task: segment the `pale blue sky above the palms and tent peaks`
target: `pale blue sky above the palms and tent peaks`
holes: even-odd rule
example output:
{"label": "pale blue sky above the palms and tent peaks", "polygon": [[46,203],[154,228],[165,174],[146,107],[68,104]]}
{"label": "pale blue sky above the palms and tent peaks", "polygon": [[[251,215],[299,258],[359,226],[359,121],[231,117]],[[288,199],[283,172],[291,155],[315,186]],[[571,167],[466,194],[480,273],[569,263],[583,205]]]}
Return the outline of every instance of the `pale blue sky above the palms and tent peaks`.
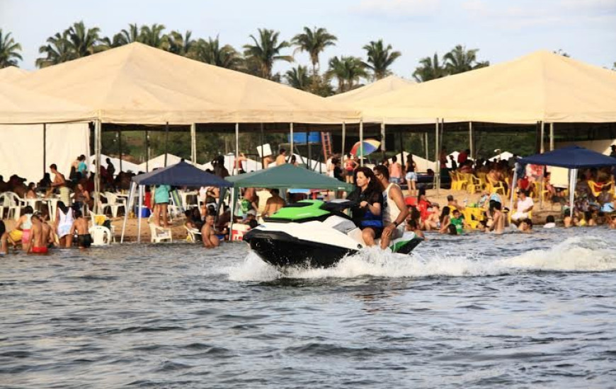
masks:
{"label": "pale blue sky above the palms and tent peaks", "polygon": [[[219,35],[237,50],[258,28],[290,40],[304,26],[323,27],[338,37],[321,54],[323,68],[335,55],[365,58],[362,47],[383,39],[402,53],[391,69],[407,79],[419,59],[455,45],[479,49],[478,59],[492,64],[536,50],[608,68],[616,62],[616,0],[0,0],[0,28],[21,43],[23,69],[35,69],[47,37],[76,21],[110,37],[129,23],[161,23],[167,33]],[[297,64],[309,64],[307,55],[296,53],[294,64],[274,71]]]}

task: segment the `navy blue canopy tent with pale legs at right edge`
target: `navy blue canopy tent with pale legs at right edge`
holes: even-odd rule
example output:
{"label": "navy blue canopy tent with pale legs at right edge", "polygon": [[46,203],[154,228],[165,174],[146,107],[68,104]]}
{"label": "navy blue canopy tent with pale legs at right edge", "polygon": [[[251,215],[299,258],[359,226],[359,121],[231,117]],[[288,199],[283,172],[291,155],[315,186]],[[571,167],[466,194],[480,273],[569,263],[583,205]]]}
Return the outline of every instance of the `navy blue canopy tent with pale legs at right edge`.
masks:
{"label": "navy blue canopy tent with pale legs at right edge", "polygon": [[[576,190],[576,180],[578,176],[578,169],[583,168],[603,168],[605,166],[616,166],[616,158],[605,156],[602,153],[596,151],[584,149],[580,146],[569,146],[563,149],[557,149],[548,151],[547,153],[536,154],[526,158],[521,158],[518,163],[527,165],[532,163],[533,165],[540,166],[558,166],[560,168],[569,169],[569,209],[571,210],[571,216],[574,212],[574,194]],[[513,190],[515,190],[515,184],[518,182],[517,169],[513,173],[513,188],[511,189],[511,209],[513,209]]]}

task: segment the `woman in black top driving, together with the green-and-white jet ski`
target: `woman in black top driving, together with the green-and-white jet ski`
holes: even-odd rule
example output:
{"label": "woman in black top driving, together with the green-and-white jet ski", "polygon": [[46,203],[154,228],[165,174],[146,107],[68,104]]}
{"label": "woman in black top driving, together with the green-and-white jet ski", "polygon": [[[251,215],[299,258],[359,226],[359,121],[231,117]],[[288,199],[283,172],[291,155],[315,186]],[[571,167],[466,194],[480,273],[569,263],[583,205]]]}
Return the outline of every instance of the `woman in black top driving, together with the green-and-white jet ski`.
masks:
{"label": "woman in black top driving, together with the green-and-white jet ski", "polygon": [[[290,204],[246,233],[244,241],[261,259],[280,267],[330,267],[346,255],[377,244],[383,229],[382,194],[378,185],[370,185],[376,182],[370,169],[358,169],[355,182],[357,188],[349,199]],[[353,218],[343,213],[347,208]],[[420,242],[414,233],[406,232],[392,240],[389,250],[409,254]]]}

